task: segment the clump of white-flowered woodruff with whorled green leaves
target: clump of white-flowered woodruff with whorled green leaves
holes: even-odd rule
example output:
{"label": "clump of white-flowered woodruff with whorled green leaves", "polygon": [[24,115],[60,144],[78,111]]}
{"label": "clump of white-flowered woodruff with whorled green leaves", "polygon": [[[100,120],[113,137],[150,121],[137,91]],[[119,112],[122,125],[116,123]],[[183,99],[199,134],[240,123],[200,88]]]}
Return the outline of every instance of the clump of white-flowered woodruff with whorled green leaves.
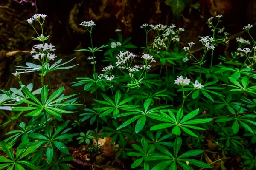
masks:
{"label": "clump of white-flowered woodruff with whorled green leaves", "polygon": [[[251,40],[238,37],[236,51],[217,56],[214,51],[218,46],[229,45],[229,34],[219,27],[222,15],[207,20],[212,35],[196,42],[203,47],[202,53],[193,51],[195,42],[181,49],[180,34],[186,34],[185,30],[162,24],[141,26],[145,30],[145,47],[139,49],[142,54],[135,54],[137,47],[130,43],[130,37],[123,40],[121,30],[116,30],[118,40],[110,39],[109,44],[98,48],[92,41],[96,24],[82,22],[91,45],[78,51],[90,56],[87,59],[93,74],[77,78],[72,86],[83,85],[95,99],[81,111],[77,106],[86,103],[79,104],[78,98],[73,98],[76,94],[64,96],[64,87],[54,92],[51,89],[49,74],[74,66],[63,66],[73,59],[53,63],[54,46],[44,43],[50,38],[43,32],[45,17],[35,14],[27,20],[34,29],[33,24],[41,25],[41,35],[35,30],[38,37],[32,37],[40,42],[31,51],[35,64],[19,66],[14,75],[21,88],[10,88],[0,96],[0,111],[9,119],[6,124],[17,125],[17,130],[6,133],[7,139],[0,143],[8,156],[0,156],[0,168],[67,170],[70,167],[65,162],[73,158],[68,156],[66,145],[74,136],[79,144],[93,146],[92,140],[96,140],[96,145],[87,149],[95,155],[101,152],[99,139],[111,137],[116,159],[134,160],[131,168],[135,169],[225,170],[231,164],[243,170],[256,168],[253,25],[244,27]],[[156,35],[152,43],[148,41],[151,32]],[[103,61],[110,65],[99,68],[97,54],[103,50]],[[32,84],[22,84],[21,75],[27,72],[41,76],[41,88],[33,91]],[[10,111],[15,116],[9,117]],[[82,112],[81,119],[72,125],[85,125],[87,130],[68,133],[69,121],[62,122],[62,116],[78,111]],[[17,118],[23,115],[31,116],[30,121],[18,124]],[[16,155],[13,146],[17,147]]]}

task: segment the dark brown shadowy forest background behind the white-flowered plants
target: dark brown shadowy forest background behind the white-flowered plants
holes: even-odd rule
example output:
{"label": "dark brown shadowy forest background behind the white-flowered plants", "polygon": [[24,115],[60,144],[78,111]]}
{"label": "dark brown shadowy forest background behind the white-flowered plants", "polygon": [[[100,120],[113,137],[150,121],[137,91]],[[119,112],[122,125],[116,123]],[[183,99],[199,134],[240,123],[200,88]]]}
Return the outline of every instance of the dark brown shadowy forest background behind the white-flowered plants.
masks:
{"label": "dark brown shadowy forest background behind the white-flowered plants", "polygon": [[[70,65],[79,64],[71,70],[51,74],[53,91],[65,86],[66,95],[80,93],[81,103],[85,105],[90,105],[93,96],[90,92],[84,92],[82,86],[73,88],[70,85],[76,81],[76,77],[92,75],[92,65],[86,54],[74,52],[90,44],[89,34],[79,26],[82,21],[93,20],[96,23],[93,43],[98,47],[107,44],[109,38],[116,38],[116,29],[122,30],[124,38],[132,37],[131,42],[137,47],[143,46],[145,32],[140,29],[143,23],[176,24],[185,28],[180,38],[180,46],[183,47],[188,42],[197,42],[199,35],[211,34],[205,22],[216,14],[224,15],[221,26],[230,34],[232,44],[236,42],[236,37],[241,36],[244,26],[256,23],[256,0],[180,0],[184,8],[170,6],[168,1],[173,0],[0,0],[0,89],[19,88],[17,79],[10,75],[15,72],[13,66],[35,62],[30,51],[36,41],[30,37],[36,35],[26,22],[35,13],[48,16],[44,32],[52,36],[48,43],[56,46],[58,59],[67,61],[76,57]],[[153,34],[150,36],[154,37]],[[247,35],[243,36],[247,38]],[[233,49],[230,47],[228,50]],[[216,58],[224,55],[224,51],[218,51]],[[138,54],[142,51],[137,49],[133,52]],[[103,53],[96,57],[96,69],[100,71],[108,63],[101,62]],[[35,73],[23,74],[21,79],[26,85],[32,82],[35,89],[40,88],[40,77]],[[74,118],[67,116],[66,119]],[[4,121],[0,115],[0,124]],[[12,128],[6,127],[3,133],[1,131],[0,138]]]}

